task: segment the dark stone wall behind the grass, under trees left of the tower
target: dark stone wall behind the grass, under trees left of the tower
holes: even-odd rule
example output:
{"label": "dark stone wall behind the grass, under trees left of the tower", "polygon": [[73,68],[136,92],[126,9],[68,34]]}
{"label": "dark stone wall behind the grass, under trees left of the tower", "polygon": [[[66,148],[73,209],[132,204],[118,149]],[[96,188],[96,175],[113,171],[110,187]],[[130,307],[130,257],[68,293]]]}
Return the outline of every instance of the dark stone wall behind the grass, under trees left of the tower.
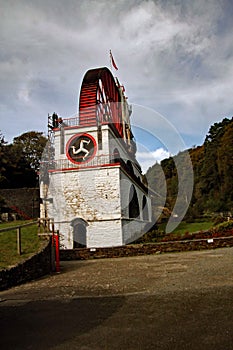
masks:
{"label": "dark stone wall behind the grass, under trees left of the tower", "polygon": [[[23,219],[38,218],[40,216],[39,188],[0,189],[0,197],[6,203],[6,212],[16,213],[18,217]],[[2,211],[4,211],[4,208]]]}

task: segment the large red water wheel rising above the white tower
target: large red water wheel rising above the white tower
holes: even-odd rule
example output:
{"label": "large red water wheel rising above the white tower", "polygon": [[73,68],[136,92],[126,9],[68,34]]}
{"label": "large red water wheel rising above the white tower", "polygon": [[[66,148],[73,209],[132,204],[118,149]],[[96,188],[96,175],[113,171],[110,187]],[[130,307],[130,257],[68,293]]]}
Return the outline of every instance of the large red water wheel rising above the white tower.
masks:
{"label": "large red water wheel rising above the white tower", "polygon": [[122,136],[121,95],[106,67],[86,72],[79,97],[80,126],[112,123]]}

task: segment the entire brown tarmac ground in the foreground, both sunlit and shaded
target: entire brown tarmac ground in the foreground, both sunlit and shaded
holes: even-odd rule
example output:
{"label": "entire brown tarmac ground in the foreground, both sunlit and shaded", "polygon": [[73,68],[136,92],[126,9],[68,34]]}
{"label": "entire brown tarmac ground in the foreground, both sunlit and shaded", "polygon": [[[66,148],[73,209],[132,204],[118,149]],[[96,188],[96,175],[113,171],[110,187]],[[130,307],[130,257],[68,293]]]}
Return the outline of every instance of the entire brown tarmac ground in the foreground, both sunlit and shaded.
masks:
{"label": "entire brown tarmac ground in the foreground, both sunlit and shaded", "polygon": [[233,248],[61,267],[0,292],[1,349],[233,349]]}

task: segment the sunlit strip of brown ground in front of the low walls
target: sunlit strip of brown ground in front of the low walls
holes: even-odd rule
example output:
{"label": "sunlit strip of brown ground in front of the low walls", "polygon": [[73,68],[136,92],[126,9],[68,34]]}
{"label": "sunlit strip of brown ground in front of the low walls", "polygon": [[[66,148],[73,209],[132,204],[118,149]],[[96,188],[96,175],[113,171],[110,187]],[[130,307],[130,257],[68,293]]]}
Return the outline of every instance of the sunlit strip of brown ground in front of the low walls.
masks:
{"label": "sunlit strip of brown ground in front of the low walls", "polygon": [[2,299],[164,294],[233,286],[233,248],[61,262],[61,273],[0,293]]}

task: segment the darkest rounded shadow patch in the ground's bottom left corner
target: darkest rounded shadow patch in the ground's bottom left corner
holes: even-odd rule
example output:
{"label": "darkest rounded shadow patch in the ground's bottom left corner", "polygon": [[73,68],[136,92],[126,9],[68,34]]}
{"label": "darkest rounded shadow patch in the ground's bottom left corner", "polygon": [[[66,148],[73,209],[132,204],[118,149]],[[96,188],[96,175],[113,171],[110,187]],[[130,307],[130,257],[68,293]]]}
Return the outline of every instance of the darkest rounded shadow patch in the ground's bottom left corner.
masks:
{"label": "darkest rounded shadow patch in the ground's bottom left corner", "polygon": [[[123,297],[44,300],[0,305],[0,349],[49,349],[97,327]],[[4,305],[5,304],[5,305]]]}

